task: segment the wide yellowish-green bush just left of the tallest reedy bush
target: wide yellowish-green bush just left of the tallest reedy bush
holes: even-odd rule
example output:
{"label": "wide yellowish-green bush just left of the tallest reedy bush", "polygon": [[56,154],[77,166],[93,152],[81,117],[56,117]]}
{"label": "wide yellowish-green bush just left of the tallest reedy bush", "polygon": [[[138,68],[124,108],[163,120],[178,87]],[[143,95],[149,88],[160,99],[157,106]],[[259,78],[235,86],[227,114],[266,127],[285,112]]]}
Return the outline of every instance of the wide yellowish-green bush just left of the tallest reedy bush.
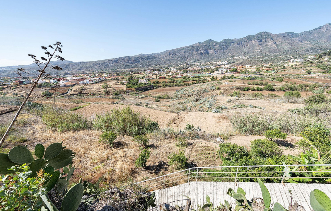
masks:
{"label": "wide yellowish-green bush just left of the tallest reedy bush", "polygon": [[91,129],[91,122],[79,114],[63,109],[46,107],[41,117],[47,129],[59,132],[82,131]]}

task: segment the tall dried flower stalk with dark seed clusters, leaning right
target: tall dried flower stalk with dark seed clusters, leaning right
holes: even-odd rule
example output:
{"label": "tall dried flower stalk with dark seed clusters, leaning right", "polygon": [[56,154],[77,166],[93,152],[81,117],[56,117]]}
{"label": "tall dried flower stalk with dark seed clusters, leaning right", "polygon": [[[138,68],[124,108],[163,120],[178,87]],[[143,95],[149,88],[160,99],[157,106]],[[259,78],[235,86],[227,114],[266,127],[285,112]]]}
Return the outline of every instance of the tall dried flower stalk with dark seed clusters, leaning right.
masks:
{"label": "tall dried flower stalk with dark seed clusters, leaning right", "polygon": [[[54,47],[53,47],[54,46]],[[11,122],[11,124],[9,125],[7,131],[5,132],[5,134],[3,135],[2,139],[0,140],[0,147],[1,145],[3,144],[3,142],[5,141],[5,139],[7,138],[8,134],[9,134],[9,131],[12,129],[17,117],[19,116],[19,114],[21,113],[26,101],[29,99],[30,95],[32,94],[33,90],[35,87],[38,86],[38,82],[40,79],[46,79],[47,77],[49,77],[50,75],[46,73],[47,70],[49,69],[52,69],[52,70],[62,70],[62,68],[60,68],[59,66],[53,66],[50,62],[53,58],[56,58],[56,59],[59,59],[61,61],[65,60],[63,57],[57,55],[57,52],[59,53],[62,53],[62,44],[61,42],[56,42],[55,44],[52,45],[49,45],[48,47],[50,49],[52,49],[52,52],[48,51],[47,50],[47,47],[45,46],[41,46],[41,48],[43,50],[45,50],[45,54],[47,55],[48,58],[45,58],[45,57],[40,57],[40,59],[42,61],[40,61],[39,59],[37,59],[37,57],[33,54],[28,54],[28,56],[30,56],[32,59],[33,59],[33,62],[35,64],[37,64],[38,66],[38,72],[39,72],[39,75],[38,74],[35,74],[35,73],[28,73],[25,71],[25,69],[23,68],[18,68],[17,70],[20,71],[20,72],[16,72],[19,76],[21,76],[22,78],[24,79],[27,79],[25,76],[26,75],[29,75],[29,76],[37,76],[37,79],[36,81],[33,81],[31,83],[31,88],[30,88],[30,91],[26,93],[26,97],[24,99],[24,101],[22,102],[19,110],[17,111],[15,117],[13,118],[13,121]]]}

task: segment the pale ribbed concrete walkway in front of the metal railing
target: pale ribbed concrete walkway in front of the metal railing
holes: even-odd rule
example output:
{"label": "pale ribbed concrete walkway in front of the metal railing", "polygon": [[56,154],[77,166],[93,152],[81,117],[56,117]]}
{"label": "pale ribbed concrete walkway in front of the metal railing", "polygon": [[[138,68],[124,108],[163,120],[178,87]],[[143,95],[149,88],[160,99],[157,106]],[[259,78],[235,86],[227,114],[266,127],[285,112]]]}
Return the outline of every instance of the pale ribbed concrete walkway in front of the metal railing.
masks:
{"label": "pale ribbed concrete walkway in front of the metal railing", "polygon": [[[286,209],[291,201],[291,196],[288,190],[292,190],[293,203],[298,202],[303,206],[306,211],[313,211],[309,203],[309,194],[311,190],[319,189],[325,192],[331,198],[331,184],[291,184],[286,183],[285,186],[281,183],[265,183],[271,195],[272,206],[275,202],[280,203]],[[226,194],[229,188],[237,191],[237,188],[241,187],[246,192],[246,198],[251,200],[253,197],[261,197],[262,193],[258,183],[237,183],[234,182],[191,182],[165,189],[155,190],[156,204],[169,203],[176,200],[187,199],[192,200],[191,208],[197,209],[197,205],[201,206],[206,203],[206,195],[209,195],[211,202],[214,206],[219,205],[224,200],[229,203],[235,203],[235,200]],[[176,201],[170,203],[170,205],[185,205],[186,201]]]}

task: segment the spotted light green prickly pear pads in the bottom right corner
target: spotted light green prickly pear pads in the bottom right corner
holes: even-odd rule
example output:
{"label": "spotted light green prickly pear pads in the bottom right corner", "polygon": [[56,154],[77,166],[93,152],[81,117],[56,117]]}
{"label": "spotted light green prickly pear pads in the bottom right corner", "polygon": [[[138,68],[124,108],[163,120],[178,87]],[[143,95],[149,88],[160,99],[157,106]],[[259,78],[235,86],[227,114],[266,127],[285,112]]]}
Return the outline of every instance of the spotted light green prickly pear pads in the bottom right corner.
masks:
{"label": "spotted light green prickly pear pads in the bottom right corner", "polygon": [[310,192],[310,206],[315,211],[328,211],[331,210],[331,200],[322,191],[314,189]]}

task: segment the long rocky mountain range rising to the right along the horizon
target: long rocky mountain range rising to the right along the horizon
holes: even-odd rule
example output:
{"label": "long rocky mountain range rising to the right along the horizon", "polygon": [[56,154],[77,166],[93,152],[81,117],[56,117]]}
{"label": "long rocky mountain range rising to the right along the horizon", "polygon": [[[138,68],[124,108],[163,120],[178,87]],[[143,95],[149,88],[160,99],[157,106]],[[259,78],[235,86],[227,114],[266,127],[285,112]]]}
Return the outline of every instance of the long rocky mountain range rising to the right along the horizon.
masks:
{"label": "long rocky mountain range rising to the right along the horizon", "polygon": [[[206,40],[193,45],[166,50],[160,53],[139,54],[115,59],[90,62],[54,61],[53,65],[63,68],[61,75],[88,73],[91,71],[114,71],[166,66],[185,63],[199,63],[226,60],[236,64],[259,64],[270,61],[281,61],[287,57],[312,55],[331,49],[331,24],[319,26],[300,33],[284,32],[273,34],[259,32],[240,39],[223,39],[222,41]],[[233,57],[250,56],[242,60]],[[36,65],[0,67],[0,76],[13,76],[17,68],[35,71]],[[59,75],[59,72],[51,74]]]}

